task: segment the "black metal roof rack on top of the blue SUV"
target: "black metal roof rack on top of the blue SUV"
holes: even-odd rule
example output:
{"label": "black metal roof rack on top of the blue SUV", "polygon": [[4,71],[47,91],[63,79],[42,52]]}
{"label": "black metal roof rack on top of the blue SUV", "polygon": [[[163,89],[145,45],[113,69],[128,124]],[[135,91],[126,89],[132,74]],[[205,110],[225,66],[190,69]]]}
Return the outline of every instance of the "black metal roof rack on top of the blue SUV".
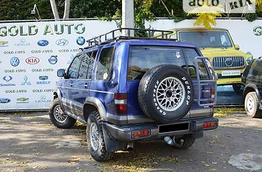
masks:
{"label": "black metal roof rack on top of the blue SUV", "polygon": [[[125,32],[128,36],[121,36]],[[155,34],[157,32],[157,34]],[[120,39],[168,39],[168,34],[172,34],[172,31],[168,30],[150,30],[150,29],[135,29],[135,28],[119,28],[112,30],[106,34],[101,34],[92,39],[88,39],[88,47],[85,49],[94,47],[97,45],[110,43]],[[157,36],[154,36],[157,35]],[[177,41],[177,39],[169,39],[170,41]]]}

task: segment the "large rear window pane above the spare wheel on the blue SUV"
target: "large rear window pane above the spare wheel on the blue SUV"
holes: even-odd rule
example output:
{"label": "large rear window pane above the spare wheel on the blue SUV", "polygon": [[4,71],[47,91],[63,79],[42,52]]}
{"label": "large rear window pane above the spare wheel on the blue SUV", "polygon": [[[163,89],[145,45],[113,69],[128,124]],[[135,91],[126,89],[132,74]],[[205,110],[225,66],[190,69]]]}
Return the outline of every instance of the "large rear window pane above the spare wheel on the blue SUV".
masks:
{"label": "large rear window pane above the spare wheel on the blue SUV", "polygon": [[148,69],[165,64],[185,66],[185,58],[180,47],[131,46],[128,80],[140,80]]}

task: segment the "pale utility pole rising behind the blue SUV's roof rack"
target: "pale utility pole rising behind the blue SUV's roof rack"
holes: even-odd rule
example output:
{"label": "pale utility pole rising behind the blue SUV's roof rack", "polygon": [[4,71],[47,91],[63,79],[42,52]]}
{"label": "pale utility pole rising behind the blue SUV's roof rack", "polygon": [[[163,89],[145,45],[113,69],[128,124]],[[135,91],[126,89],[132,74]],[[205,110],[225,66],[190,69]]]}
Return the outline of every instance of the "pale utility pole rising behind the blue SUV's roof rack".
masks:
{"label": "pale utility pole rising behind the blue SUV's roof rack", "polygon": [[[134,28],[134,0],[122,0],[122,28]],[[134,32],[122,32],[123,36],[134,36]]]}

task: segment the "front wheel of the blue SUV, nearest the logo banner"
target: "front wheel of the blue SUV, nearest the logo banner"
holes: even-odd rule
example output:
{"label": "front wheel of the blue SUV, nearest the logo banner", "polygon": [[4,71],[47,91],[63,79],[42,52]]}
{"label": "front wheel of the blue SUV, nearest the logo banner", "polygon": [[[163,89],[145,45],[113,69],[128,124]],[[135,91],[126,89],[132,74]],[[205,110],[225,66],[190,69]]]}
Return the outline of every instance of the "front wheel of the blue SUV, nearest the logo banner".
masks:
{"label": "front wheel of the blue SUV, nearest the logo banner", "polygon": [[49,116],[52,124],[61,129],[69,129],[73,127],[74,123],[77,121],[63,112],[59,103],[59,98],[54,99],[50,105]]}

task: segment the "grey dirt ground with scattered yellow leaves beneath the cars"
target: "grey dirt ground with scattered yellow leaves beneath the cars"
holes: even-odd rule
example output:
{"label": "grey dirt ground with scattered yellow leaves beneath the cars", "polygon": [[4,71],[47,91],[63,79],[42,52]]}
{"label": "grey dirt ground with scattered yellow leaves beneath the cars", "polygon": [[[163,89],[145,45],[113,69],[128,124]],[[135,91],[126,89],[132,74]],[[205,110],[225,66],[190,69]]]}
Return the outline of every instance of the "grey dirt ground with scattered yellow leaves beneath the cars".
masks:
{"label": "grey dirt ground with scattered yellow leaves beneath the cars", "polygon": [[218,116],[219,128],[188,150],[138,142],[99,163],[88,153],[83,125],[57,129],[47,112],[0,114],[0,171],[262,171],[262,119]]}

